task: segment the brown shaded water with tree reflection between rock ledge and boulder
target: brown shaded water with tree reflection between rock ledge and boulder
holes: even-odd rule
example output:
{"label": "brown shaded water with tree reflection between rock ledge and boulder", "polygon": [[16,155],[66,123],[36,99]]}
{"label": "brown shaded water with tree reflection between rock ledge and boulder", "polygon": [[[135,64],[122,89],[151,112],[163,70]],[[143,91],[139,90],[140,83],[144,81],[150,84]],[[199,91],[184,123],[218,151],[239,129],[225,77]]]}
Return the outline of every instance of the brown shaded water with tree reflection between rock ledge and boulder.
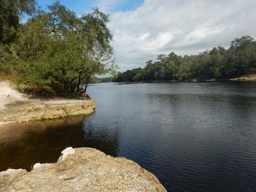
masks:
{"label": "brown shaded water with tree reflection between rock ledge and boulder", "polygon": [[4,127],[0,130],[0,171],[9,167],[30,170],[38,162],[57,162],[61,151],[70,146],[93,147],[116,156],[116,134],[95,132],[93,129],[85,134],[82,124],[86,118],[68,117]]}

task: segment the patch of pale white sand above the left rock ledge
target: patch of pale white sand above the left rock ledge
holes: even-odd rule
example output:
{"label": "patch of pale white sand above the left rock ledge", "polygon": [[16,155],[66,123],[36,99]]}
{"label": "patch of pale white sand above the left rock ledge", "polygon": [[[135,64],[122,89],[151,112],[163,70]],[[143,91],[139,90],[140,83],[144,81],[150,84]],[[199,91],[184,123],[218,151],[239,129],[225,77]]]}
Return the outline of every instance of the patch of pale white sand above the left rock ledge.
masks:
{"label": "patch of pale white sand above the left rock ledge", "polygon": [[0,81],[0,110],[6,109],[6,105],[11,103],[29,101],[25,94],[12,87],[15,85],[11,84],[10,81]]}

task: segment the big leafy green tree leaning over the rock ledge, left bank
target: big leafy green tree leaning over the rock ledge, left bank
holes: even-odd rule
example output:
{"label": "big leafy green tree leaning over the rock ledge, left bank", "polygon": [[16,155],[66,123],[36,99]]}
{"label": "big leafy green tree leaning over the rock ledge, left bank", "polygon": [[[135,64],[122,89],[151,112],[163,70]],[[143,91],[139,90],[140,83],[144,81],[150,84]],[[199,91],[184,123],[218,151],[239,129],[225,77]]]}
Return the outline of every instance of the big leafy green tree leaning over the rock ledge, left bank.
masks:
{"label": "big leafy green tree leaning over the rock ledge, left bank", "polygon": [[92,75],[115,72],[109,15],[95,8],[78,18],[59,2],[48,9],[19,30],[14,63],[22,83],[79,92],[81,82],[87,87]]}

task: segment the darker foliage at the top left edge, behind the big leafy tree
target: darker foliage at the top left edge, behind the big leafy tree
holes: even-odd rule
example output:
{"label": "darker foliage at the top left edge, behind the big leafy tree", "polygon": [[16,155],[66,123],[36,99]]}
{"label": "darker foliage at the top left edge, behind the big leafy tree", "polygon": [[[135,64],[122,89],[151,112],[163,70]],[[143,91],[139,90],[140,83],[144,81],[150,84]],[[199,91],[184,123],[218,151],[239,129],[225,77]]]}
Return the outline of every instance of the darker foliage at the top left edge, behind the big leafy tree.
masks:
{"label": "darker foliage at the top left edge, behind the big leafy tree", "polygon": [[0,79],[17,79],[17,74],[9,65],[17,54],[10,45],[17,39],[23,14],[35,13],[36,5],[35,0],[0,0]]}

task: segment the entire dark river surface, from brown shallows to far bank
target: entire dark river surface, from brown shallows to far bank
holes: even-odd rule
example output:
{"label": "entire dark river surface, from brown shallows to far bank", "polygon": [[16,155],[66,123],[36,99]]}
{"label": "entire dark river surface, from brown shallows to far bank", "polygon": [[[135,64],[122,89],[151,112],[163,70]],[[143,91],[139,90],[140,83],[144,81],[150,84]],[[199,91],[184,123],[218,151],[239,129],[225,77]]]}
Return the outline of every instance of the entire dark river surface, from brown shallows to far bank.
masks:
{"label": "entire dark river surface, from brown shallows to far bank", "polygon": [[0,129],[0,169],[94,147],[168,191],[256,191],[256,82],[95,84],[96,113]]}

